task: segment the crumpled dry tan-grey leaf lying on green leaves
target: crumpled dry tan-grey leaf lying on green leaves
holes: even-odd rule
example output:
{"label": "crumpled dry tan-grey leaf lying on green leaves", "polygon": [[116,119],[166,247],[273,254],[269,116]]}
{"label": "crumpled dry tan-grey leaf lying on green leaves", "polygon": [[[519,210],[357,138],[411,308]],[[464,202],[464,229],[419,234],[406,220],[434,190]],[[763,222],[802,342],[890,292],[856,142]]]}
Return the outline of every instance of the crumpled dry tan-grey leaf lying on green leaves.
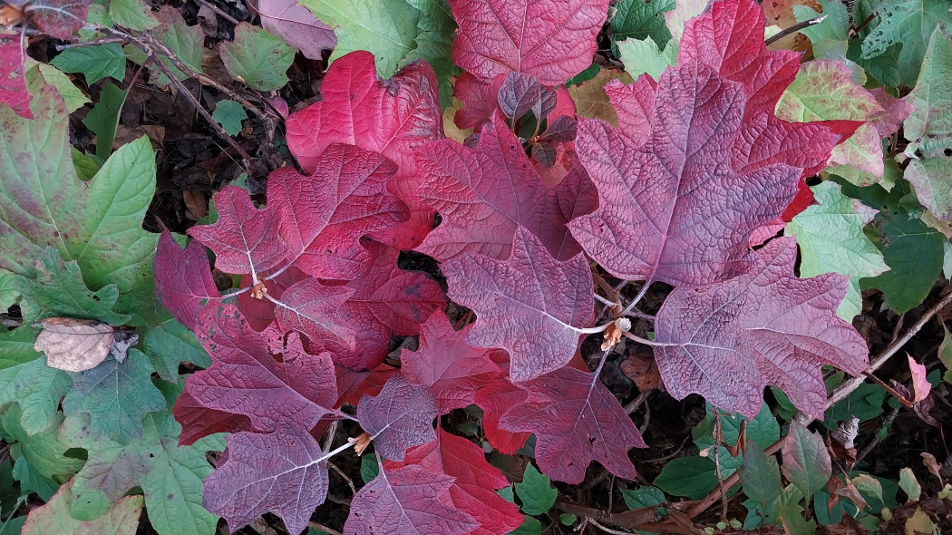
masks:
{"label": "crumpled dry tan-grey leaf lying on green leaves", "polygon": [[126,360],[129,347],[139,342],[134,332],[117,330],[95,320],[47,318],[39,322],[43,328],[33,349],[47,356],[47,365],[65,371],[86,371],[106,360],[109,352],[120,363]]}

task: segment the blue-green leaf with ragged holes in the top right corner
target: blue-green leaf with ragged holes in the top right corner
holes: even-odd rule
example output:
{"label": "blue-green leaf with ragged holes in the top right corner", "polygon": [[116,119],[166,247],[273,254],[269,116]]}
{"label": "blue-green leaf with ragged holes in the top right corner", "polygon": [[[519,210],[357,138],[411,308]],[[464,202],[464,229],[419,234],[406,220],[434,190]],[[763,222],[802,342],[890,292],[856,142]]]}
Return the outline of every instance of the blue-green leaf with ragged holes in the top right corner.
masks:
{"label": "blue-green leaf with ragged holes in the top right corner", "polygon": [[[878,16],[865,32],[862,57],[876,57],[890,47],[900,46],[902,50],[896,61],[899,83],[890,85],[912,86],[936,25],[946,31],[952,28],[948,5],[935,0],[883,0],[882,3],[867,0],[865,6],[875,6]],[[863,11],[866,10],[858,9],[854,20],[864,20],[868,11]]]}

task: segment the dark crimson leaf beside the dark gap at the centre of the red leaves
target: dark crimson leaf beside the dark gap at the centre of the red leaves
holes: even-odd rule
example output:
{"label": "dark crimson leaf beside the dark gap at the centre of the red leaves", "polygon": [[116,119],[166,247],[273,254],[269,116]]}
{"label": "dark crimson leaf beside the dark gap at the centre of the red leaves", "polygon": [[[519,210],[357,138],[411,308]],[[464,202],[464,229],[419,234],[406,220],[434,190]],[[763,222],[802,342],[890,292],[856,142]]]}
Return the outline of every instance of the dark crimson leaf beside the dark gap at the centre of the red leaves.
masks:
{"label": "dark crimson leaf beside the dark gap at the centre of the red leaves", "polygon": [[382,363],[391,336],[416,336],[433,310],[446,307],[439,284],[423,273],[397,267],[399,250],[378,243],[368,248],[375,256],[373,263],[347,283],[353,295],[337,311],[343,323],[357,332],[356,345],[347,347],[333,340],[324,345],[335,363],[357,370]]}

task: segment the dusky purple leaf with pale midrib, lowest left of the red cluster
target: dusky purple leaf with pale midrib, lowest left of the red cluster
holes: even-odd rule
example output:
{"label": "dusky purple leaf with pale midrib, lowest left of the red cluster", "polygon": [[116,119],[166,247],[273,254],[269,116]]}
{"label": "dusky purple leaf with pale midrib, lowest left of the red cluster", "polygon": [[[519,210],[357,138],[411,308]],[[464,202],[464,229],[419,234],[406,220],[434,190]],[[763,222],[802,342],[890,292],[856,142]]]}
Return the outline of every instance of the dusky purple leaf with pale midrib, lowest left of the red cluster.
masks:
{"label": "dusky purple leaf with pale midrib, lowest left of the red cluster", "polygon": [[228,436],[228,449],[207,478],[202,505],[225,518],[232,532],[267,512],[288,532],[307,528],[314,508],[327,497],[327,461],[306,429],[283,424],[272,433]]}

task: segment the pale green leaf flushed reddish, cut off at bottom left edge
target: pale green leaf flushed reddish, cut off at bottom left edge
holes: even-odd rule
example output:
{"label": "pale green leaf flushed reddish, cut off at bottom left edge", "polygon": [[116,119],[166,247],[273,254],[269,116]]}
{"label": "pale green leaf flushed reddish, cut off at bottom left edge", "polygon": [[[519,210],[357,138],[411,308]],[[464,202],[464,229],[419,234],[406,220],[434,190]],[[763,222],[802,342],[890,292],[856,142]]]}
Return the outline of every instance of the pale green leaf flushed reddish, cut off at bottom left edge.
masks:
{"label": "pale green leaf flushed reddish, cut off at bottom left edge", "polygon": [[69,514],[72,508],[72,482],[60,487],[47,505],[30,511],[23,535],[50,533],[95,533],[96,535],[135,535],[142,516],[142,496],[126,496],[109,507],[106,514],[89,522]]}

